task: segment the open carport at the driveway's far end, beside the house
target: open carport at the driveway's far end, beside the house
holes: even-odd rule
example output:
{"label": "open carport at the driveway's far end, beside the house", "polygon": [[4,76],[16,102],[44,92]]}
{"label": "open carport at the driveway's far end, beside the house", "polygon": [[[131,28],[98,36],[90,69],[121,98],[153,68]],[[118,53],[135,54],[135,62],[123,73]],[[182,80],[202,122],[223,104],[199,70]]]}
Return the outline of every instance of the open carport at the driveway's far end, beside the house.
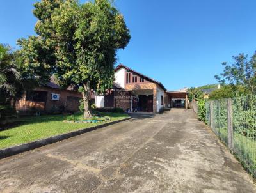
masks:
{"label": "open carport at the driveway's far end, beside the house", "polygon": [[166,91],[169,96],[171,108],[188,109],[188,92]]}

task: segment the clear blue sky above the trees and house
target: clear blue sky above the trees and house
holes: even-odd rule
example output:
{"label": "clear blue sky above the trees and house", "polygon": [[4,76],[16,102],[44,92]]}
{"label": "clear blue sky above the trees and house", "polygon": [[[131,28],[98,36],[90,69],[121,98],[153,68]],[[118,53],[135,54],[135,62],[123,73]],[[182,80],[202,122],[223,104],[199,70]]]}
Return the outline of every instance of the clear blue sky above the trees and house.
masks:
{"label": "clear blue sky above the trees and house", "polygon": [[[35,0],[0,3],[0,43],[35,35]],[[169,90],[216,83],[223,61],[256,50],[255,0],[116,0],[131,30],[118,62]]]}

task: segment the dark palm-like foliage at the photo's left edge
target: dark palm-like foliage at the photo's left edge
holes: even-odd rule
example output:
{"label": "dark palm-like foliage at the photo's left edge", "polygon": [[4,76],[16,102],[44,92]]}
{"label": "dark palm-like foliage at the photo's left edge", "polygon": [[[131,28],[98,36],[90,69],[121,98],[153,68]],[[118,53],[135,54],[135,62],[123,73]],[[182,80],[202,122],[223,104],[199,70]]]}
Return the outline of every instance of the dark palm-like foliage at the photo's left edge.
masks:
{"label": "dark palm-like foliage at the photo's left edge", "polygon": [[33,88],[33,79],[27,76],[26,68],[19,52],[13,52],[8,45],[0,44],[0,118],[12,116],[15,111],[10,107],[21,98],[24,89]]}

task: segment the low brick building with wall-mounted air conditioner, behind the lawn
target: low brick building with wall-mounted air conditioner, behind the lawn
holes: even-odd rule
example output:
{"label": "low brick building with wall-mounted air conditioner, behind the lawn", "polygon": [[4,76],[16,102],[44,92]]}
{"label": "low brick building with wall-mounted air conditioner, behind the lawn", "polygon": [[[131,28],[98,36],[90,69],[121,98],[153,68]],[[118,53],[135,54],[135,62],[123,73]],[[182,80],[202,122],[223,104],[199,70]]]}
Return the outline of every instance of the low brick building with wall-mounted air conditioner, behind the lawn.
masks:
{"label": "low brick building with wall-mounted air conditioner, behind the lawn", "polygon": [[74,88],[61,89],[56,78],[51,77],[47,85],[26,91],[22,98],[15,102],[15,109],[21,114],[31,111],[76,112],[79,111],[81,98],[81,93]]}

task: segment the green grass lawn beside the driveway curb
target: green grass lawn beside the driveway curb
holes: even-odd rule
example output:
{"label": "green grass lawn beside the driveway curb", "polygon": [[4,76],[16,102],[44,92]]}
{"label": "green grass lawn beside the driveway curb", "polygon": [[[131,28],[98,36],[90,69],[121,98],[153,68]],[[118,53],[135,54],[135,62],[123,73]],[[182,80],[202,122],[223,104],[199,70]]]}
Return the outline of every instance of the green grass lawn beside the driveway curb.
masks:
{"label": "green grass lawn beside the driveway curb", "polygon": [[[102,116],[109,116],[111,121],[122,120],[129,117],[124,113],[100,112],[100,114]],[[74,117],[81,119],[83,115],[76,114]],[[15,127],[0,131],[0,149],[103,124],[64,123],[63,120],[66,118],[67,116],[64,115],[43,115],[19,118]]]}

